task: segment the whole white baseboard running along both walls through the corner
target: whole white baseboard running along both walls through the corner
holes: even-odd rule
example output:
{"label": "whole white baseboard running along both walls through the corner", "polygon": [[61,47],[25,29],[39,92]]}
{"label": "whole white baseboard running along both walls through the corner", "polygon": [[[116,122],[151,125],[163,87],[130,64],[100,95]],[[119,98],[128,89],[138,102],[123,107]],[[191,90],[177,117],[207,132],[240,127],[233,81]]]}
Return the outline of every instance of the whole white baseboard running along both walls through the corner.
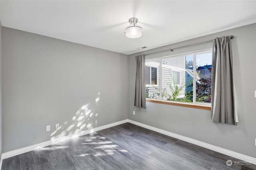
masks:
{"label": "whole white baseboard running along both walls through the corner", "polygon": [[140,127],[144,127],[146,129],[150,129],[152,131],[156,131],[158,133],[162,133],[162,134],[170,136],[170,137],[174,137],[176,139],[180,139],[182,141],[192,143],[194,145],[198,145],[200,147],[204,147],[204,148],[207,148],[207,149],[210,149],[210,150],[214,150],[216,152],[220,152],[222,154],[226,154],[228,156],[232,156],[232,157],[240,159],[240,160],[251,161],[252,164],[256,164],[256,158],[253,158],[251,156],[240,154],[240,153],[237,153],[237,152],[234,152],[234,151],[231,151],[231,150],[227,150],[227,149],[224,149],[224,148],[221,148],[221,147],[216,147],[216,146],[210,145],[208,143],[197,141],[195,139],[184,137],[182,135],[178,135],[178,134],[175,134],[175,133],[172,133],[172,132],[169,132],[169,131],[164,131],[162,129],[158,129],[156,127],[152,127],[152,126],[149,126],[149,125],[145,125],[143,123],[139,123],[139,122],[136,122],[136,121],[133,121],[133,120],[130,120],[130,119],[125,119],[123,121],[110,123],[108,125],[96,127],[96,128],[93,128],[93,129],[89,129],[89,130],[82,131],[82,132],[79,132],[79,133],[75,133],[75,134],[72,134],[72,135],[68,135],[68,136],[65,136],[65,137],[60,137],[60,138],[57,138],[57,139],[54,139],[54,140],[51,140],[51,141],[46,141],[46,142],[43,142],[43,143],[39,143],[39,144],[36,144],[36,145],[24,147],[24,148],[21,148],[21,149],[12,150],[10,152],[5,152],[5,153],[2,154],[2,157],[1,157],[0,167],[2,167],[2,160],[3,159],[10,158],[12,156],[16,156],[16,155],[23,154],[23,153],[26,153],[26,152],[30,152],[32,150],[36,150],[36,149],[39,149],[39,148],[42,148],[42,147],[47,147],[47,146],[55,144],[55,143],[63,142],[63,141],[69,140],[69,139],[73,139],[75,137],[79,137],[79,136],[86,135],[86,134],[89,134],[89,133],[92,133],[92,132],[100,131],[102,129],[106,129],[106,128],[113,127],[113,126],[120,125],[120,124],[127,123],[127,122],[132,123],[134,125],[138,125]]}

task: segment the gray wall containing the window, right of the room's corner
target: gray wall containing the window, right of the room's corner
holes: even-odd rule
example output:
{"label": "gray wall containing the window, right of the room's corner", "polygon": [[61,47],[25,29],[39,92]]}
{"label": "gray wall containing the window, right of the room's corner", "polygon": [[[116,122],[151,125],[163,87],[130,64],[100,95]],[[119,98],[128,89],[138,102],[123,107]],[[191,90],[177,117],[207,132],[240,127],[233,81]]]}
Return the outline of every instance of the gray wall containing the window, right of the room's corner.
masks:
{"label": "gray wall containing the window, right of the room's corner", "polygon": [[[207,41],[215,37],[234,35],[232,39],[237,126],[211,122],[211,111],[188,107],[146,103],[146,109],[133,106],[136,62],[134,56],[166,50],[182,45]],[[214,33],[188,41],[129,55],[128,91],[129,119],[185,137],[256,158],[256,24]],[[173,52],[148,55],[146,59],[212,48],[211,43],[177,49]],[[133,115],[132,111],[135,111]]]}

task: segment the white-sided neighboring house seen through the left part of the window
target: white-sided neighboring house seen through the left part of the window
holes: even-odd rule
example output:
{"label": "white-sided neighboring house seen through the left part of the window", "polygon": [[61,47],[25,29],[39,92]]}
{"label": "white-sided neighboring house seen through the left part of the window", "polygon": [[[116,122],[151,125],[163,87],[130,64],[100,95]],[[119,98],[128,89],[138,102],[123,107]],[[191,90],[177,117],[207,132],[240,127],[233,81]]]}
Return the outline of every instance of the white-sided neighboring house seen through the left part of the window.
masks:
{"label": "white-sided neighboring house seen through the left part of the window", "polygon": [[[146,62],[146,90],[148,98],[159,98],[160,71],[159,61]],[[172,95],[171,86],[185,83],[185,56],[162,59],[162,99],[167,100],[164,95]],[[179,98],[185,96],[185,89],[180,92]]]}

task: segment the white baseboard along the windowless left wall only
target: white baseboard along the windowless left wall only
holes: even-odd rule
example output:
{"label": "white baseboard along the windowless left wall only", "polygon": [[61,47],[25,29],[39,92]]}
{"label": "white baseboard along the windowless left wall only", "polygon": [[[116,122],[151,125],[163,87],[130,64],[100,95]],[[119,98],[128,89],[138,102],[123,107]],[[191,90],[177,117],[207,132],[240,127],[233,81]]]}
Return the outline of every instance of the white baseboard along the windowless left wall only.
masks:
{"label": "white baseboard along the windowless left wall only", "polygon": [[80,137],[82,135],[86,135],[86,134],[89,134],[89,133],[92,133],[92,132],[107,129],[109,127],[113,127],[113,126],[116,126],[116,125],[121,125],[121,124],[127,123],[127,122],[128,122],[128,119],[118,121],[118,122],[115,122],[115,123],[110,123],[108,125],[104,125],[104,126],[100,126],[100,127],[95,127],[93,129],[89,129],[89,130],[82,131],[82,132],[79,132],[79,133],[75,133],[75,134],[72,134],[72,135],[56,138],[54,140],[38,143],[36,145],[31,145],[31,146],[28,146],[28,147],[12,150],[10,152],[5,152],[5,153],[2,154],[1,162],[2,162],[3,159],[10,158],[12,156],[16,156],[16,155],[19,155],[19,154],[30,152],[32,150],[40,149],[40,148],[43,148],[43,147],[47,147],[49,145],[53,145],[53,144],[56,144],[56,143],[59,143],[59,142],[63,142],[63,141],[69,140],[69,139],[73,139],[75,137]]}

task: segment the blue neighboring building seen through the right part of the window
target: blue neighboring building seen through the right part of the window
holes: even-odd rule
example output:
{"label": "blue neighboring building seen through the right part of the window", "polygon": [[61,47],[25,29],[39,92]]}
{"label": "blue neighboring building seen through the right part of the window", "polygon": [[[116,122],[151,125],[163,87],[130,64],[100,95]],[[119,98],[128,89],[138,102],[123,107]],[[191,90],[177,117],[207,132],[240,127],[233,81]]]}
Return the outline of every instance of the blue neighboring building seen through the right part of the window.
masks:
{"label": "blue neighboring building seen through the right part of the window", "polygon": [[[196,83],[200,83],[199,80],[201,78],[210,78],[212,73],[209,71],[209,68],[212,68],[212,65],[204,65],[196,68]],[[185,84],[188,84],[191,80],[193,80],[193,67],[186,68],[185,76]],[[193,90],[193,87],[187,86],[185,88],[186,93],[188,93],[190,90]]]}

